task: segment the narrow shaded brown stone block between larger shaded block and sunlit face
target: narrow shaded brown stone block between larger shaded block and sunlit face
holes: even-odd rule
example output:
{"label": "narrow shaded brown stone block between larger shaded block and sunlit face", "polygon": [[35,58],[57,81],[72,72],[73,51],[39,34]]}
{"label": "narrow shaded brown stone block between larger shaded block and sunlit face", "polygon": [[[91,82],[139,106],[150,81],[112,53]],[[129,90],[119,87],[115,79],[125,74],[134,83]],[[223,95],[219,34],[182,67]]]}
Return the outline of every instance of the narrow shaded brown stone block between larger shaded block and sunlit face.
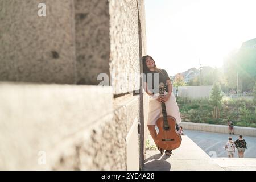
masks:
{"label": "narrow shaded brown stone block between larger shaded block and sunlit face", "polygon": [[109,75],[108,0],[75,0],[77,83],[97,85]]}

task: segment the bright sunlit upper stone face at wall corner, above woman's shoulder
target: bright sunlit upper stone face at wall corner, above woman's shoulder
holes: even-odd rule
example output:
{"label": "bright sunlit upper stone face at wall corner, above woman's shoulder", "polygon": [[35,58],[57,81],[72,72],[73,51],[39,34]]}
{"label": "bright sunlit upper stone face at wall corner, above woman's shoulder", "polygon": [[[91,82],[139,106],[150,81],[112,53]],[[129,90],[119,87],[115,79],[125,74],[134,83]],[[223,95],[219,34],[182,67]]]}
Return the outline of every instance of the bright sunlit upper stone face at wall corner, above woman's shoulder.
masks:
{"label": "bright sunlit upper stone face at wall corner, above woman's shoulder", "polygon": [[[110,0],[110,73],[115,94],[139,89],[139,29],[137,1]],[[125,74],[126,73],[126,74]]]}

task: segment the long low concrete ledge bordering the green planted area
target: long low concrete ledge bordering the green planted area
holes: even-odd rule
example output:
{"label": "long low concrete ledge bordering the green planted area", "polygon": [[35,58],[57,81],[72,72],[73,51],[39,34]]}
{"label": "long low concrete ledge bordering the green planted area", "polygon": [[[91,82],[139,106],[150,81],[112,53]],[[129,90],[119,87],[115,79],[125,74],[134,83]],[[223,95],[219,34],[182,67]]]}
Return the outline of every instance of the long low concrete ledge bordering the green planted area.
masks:
{"label": "long low concrete ledge bordering the green planted area", "polygon": [[[212,124],[204,124],[204,123],[181,122],[179,126],[182,126],[183,129],[188,129],[188,130],[208,131],[208,132],[216,132],[216,133],[229,133],[228,125],[212,125]],[[255,137],[256,128],[234,126],[234,134]]]}

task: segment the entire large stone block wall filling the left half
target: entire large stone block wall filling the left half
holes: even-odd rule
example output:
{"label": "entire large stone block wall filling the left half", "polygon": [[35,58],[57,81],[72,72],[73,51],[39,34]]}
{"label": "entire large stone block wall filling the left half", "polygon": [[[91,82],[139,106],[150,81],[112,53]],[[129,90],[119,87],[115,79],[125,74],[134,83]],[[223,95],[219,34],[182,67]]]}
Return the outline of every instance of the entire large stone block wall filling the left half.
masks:
{"label": "entire large stone block wall filling the left half", "polygon": [[40,2],[0,0],[0,168],[138,170],[144,1]]}

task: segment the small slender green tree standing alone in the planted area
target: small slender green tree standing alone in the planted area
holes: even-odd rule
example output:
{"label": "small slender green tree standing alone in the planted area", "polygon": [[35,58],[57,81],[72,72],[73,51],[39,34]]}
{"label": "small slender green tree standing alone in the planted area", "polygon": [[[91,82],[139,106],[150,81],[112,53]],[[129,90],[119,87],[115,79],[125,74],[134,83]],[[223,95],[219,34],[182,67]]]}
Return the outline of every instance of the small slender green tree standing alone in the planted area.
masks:
{"label": "small slender green tree standing alone in the planted area", "polygon": [[220,117],[220,106],[221,106],[221,100],[222,100],[222,93],[221,93],[221,86],[218,84],[218,82],[214,82],[212,91],[210,92],[210,98],[209,102],[213,106],[213,118],[219,118]]}

